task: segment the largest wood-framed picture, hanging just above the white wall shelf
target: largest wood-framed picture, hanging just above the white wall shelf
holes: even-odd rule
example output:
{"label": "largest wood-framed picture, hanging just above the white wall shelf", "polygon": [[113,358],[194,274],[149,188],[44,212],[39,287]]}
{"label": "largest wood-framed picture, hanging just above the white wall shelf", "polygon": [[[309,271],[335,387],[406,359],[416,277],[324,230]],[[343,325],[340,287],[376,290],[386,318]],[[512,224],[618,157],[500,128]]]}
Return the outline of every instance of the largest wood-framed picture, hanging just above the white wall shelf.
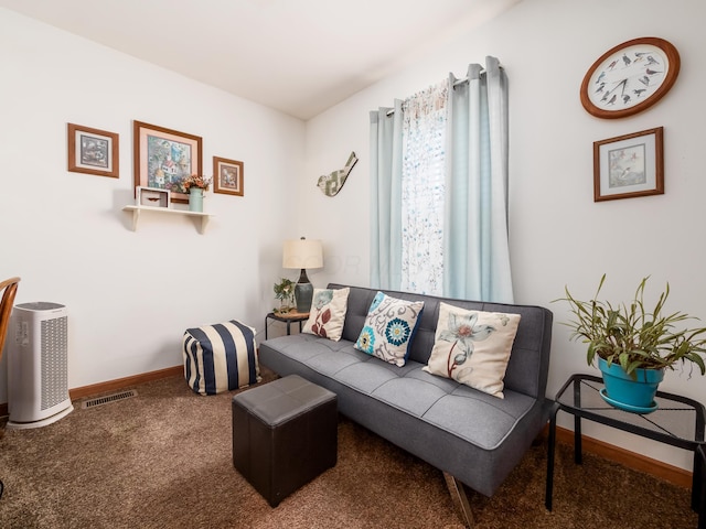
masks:
{"label": "largest wood-framed picture, hanging just above the white wall shelf", "polygon": [[171,202],[189,203],[183,180],[201,174],[202,140],[199,136],[133,121],[135,188],[168,190]]}

